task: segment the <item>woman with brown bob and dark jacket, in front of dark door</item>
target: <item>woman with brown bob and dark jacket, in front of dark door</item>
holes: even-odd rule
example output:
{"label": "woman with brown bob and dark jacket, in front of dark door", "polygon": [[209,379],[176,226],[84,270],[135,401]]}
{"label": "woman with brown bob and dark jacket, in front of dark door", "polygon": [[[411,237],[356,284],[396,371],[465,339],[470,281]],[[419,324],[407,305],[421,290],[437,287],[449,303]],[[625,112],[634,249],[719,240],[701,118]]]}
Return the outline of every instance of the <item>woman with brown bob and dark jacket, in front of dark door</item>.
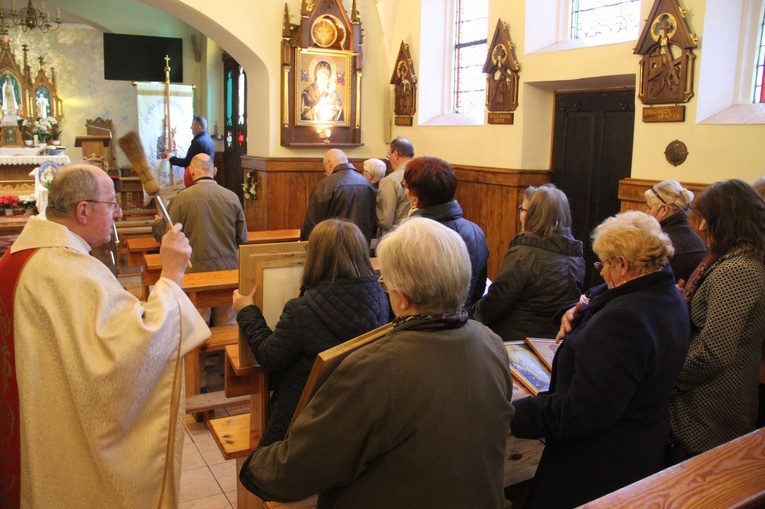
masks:
{"label": "woman with brown bob and dark jacket, in front of dark door", "polygon": [[519,213],[522,231],[474,317],[505,341],[552,338],[553,315],[582,293],[582,243],[571,236],[566,195],[551,184],[527,188]]}

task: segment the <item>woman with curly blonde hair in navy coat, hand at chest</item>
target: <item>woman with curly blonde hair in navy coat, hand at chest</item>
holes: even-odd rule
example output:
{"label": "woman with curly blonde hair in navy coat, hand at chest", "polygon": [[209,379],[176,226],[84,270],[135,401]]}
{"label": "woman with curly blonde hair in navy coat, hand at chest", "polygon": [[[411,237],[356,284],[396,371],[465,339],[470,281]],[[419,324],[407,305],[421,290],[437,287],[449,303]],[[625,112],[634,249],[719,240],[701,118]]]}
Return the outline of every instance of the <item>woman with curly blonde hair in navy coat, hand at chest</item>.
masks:
{"label": "woman with curly blonde hair in navy coat, hand at chest", "polygon": [[550,392],[514,403],[512,432],[546,438],[527,508],[575,507],[660,469],[688,311],[664,267],[672,246],[638,211],[593,233],[606,281],[564,316]]}

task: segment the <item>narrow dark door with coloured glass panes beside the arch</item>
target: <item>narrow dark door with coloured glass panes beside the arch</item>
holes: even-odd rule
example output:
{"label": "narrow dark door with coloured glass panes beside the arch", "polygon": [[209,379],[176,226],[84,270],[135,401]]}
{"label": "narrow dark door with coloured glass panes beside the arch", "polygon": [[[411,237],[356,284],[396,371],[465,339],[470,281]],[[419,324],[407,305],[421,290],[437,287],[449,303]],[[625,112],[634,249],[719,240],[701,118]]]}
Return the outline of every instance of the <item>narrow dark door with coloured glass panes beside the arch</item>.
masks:
{"label": "narrow dark door with coloured glass panes beside the arch", "polygon": [[247,74],[228,53],[223,54],[223,175],[218,183],[243,200],[242,156],[247,154]]}

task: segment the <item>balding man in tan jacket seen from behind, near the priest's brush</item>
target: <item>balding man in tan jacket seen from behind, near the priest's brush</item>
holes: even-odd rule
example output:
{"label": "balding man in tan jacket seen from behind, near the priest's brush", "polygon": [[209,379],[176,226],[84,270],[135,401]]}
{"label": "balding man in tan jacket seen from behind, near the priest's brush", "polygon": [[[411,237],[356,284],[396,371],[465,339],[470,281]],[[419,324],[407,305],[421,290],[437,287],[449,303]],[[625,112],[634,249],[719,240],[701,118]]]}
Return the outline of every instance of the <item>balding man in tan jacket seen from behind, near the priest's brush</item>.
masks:
{"label": "balding man in tan jacket seen from behind, near the priest's brush", "polygon": [[[239,197],[215,182],[216,169],[207,154],[197,154],[186,168],[184,180],[191,182],[168,207],[174,222],[183,223],[191,244],[192,268],[188,272],[210,272],[239,268],[239,246],[247,242],[247,221]],[[154,222],[154,237],[167,230],[164,220]],[[200,309],[209,319],[209,308]],[[212,311],[212,325],[236,323],[231,306]]]}

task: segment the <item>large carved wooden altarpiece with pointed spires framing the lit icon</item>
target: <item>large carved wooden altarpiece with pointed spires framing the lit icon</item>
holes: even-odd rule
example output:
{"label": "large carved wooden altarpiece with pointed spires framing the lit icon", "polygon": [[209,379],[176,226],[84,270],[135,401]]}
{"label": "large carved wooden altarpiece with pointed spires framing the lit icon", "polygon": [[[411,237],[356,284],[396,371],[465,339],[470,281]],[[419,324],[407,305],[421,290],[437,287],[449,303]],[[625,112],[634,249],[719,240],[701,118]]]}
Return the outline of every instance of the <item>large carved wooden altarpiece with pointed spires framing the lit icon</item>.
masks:
{"label": "large carved wooden altarpiece with pointed spires framing the lit icon", "polygon": [[361,19],[341,0],[302,0],[282,26],[282,145],[361,145]]}

